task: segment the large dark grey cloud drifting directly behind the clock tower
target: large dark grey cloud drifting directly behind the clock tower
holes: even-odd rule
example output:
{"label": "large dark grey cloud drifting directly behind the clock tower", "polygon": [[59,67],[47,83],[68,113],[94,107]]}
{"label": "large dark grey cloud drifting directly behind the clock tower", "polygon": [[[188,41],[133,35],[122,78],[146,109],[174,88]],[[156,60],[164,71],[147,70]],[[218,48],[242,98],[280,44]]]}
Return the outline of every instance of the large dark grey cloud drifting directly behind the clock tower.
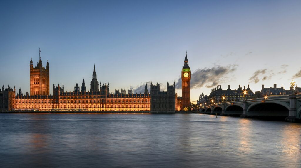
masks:
{"label": "large dark grey cloud drifting directly behind the clock tower", "polygon": [[[211,88],[222,82],[224,82],[228,75],[237,69],[237,64],[229,64],[226,66],[216,66],[212,68],[197,69],[191,74],[191,89],[201,88],[205,86],[206,88]],[[182,79],[179,78],[176,88],[180,89],[182,87]]]}

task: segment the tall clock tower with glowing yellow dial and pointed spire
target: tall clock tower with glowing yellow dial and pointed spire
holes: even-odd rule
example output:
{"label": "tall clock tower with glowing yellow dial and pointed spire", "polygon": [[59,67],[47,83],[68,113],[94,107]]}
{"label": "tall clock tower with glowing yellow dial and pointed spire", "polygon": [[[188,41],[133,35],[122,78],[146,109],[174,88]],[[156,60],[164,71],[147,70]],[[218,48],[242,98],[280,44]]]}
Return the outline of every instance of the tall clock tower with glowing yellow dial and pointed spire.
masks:
{"label": "tall clock tower with glowing yellow dial and pointed spire", "polygon": [[188,111],[190,110],[190,79],[191,71],[188,65],[187,52],[184,60],[184,66],[182,68],[182,108],[181,110]]}

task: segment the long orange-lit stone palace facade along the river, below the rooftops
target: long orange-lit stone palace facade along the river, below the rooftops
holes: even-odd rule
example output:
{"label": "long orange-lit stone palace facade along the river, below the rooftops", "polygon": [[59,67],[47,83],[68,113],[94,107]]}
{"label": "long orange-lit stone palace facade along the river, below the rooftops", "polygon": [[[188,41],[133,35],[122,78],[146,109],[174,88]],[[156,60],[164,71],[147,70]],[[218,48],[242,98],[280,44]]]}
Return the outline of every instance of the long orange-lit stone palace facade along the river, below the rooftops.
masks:
{"label": "long orange-lit stone palace facade along the river, below the rooftops", "polygon": [[101,95],[99,91],[64,92],[59,84],[54,95],[16,96],[16,110],[150,111],[150,106],[150,94]]}

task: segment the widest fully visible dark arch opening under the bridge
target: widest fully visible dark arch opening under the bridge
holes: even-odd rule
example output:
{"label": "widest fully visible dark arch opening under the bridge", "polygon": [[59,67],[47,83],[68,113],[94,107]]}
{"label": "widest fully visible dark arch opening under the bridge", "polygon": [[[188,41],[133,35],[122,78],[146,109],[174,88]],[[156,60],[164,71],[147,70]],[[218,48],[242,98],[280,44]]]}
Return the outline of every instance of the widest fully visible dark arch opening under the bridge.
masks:
{"label": "widest fully visible dark arch opening under the bridge", "polygon": [[247,116],[279,116],[287,117],[289,107],[274,102],[256,103],[247,110]]}

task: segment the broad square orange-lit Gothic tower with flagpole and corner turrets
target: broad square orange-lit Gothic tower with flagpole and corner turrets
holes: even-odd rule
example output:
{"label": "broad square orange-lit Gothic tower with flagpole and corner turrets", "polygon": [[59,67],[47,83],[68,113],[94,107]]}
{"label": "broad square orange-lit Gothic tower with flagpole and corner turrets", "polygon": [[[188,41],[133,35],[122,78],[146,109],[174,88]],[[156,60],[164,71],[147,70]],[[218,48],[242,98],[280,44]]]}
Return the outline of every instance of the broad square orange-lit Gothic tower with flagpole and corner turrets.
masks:
{"label": "broad square orange-lit Gothic tower with flagpole and corner turrets", "polygon": [[[41,50],[40,50],[41,52]],[[49,95],[49,63],[46,69],[43,67],[41,57],[36,67],[30,59],[30,95]]]}

